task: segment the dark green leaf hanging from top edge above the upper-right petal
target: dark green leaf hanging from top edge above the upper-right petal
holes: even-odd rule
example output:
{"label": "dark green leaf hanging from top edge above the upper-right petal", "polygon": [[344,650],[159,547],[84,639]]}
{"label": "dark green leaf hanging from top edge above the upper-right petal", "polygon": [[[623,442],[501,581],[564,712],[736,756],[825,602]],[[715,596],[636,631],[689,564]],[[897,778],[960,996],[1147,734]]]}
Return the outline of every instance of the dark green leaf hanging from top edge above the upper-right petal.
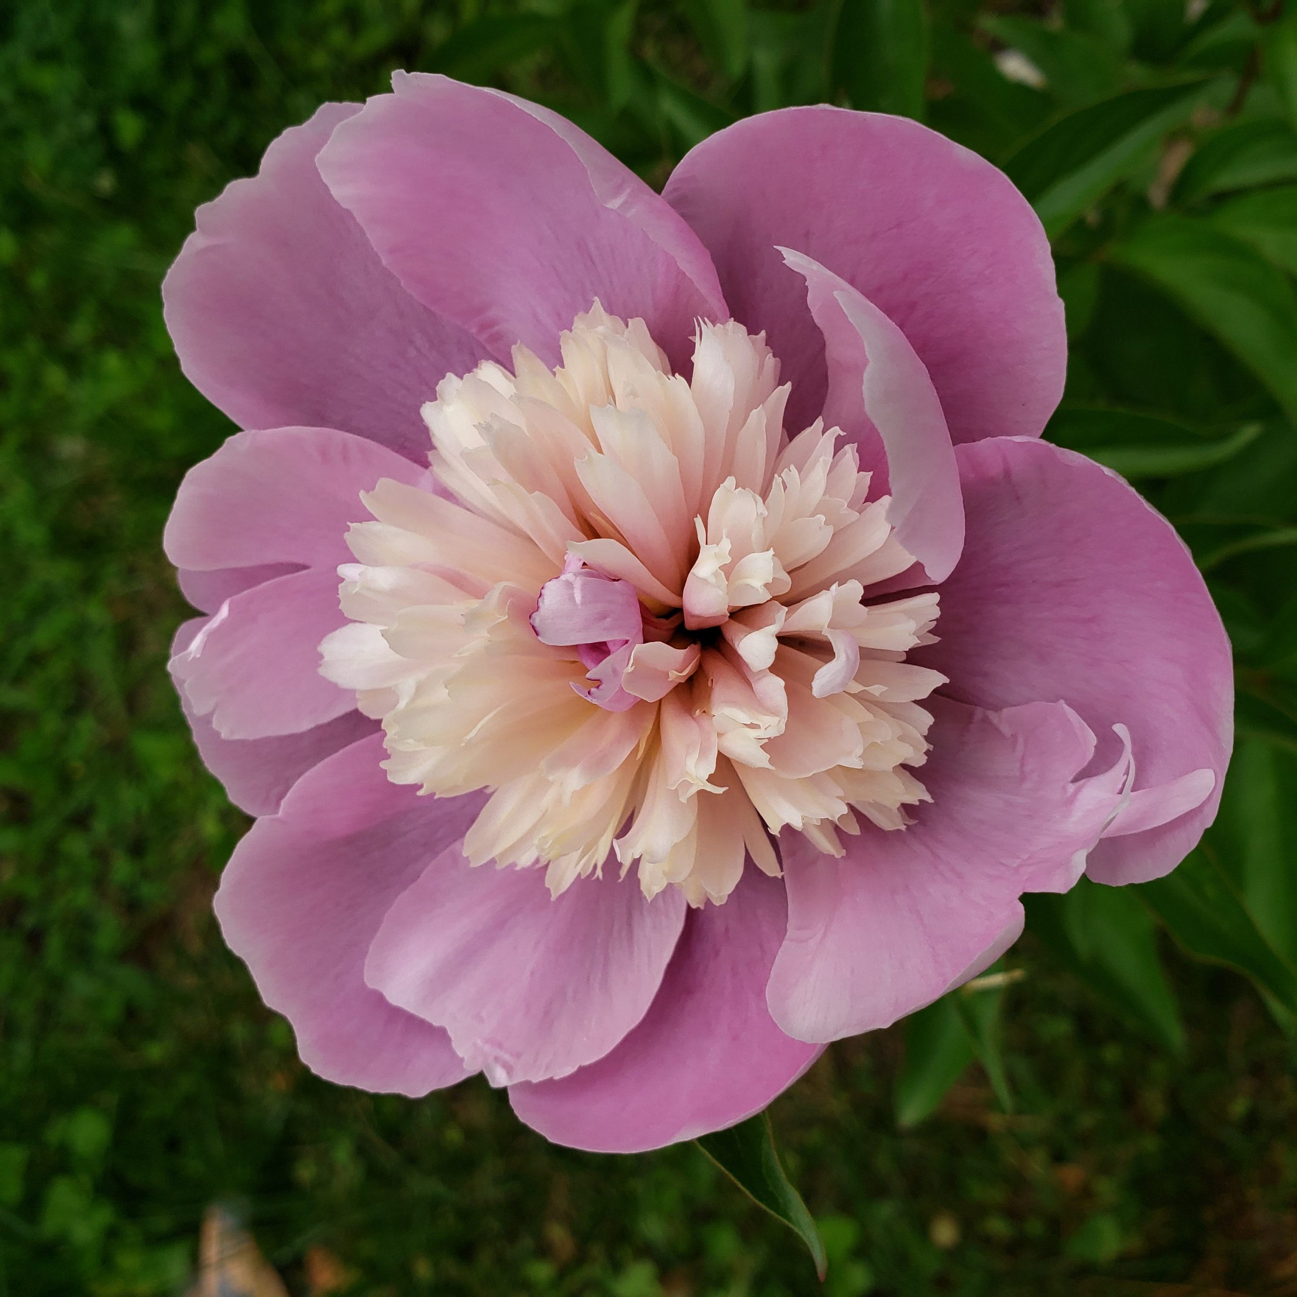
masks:
{"label": "dark green leaf hanging from top edge above the upper-right petal", "polygon": [[922,0],[842,0],[830,44],[833,89],[852,108],[922,119],[927,80]]}

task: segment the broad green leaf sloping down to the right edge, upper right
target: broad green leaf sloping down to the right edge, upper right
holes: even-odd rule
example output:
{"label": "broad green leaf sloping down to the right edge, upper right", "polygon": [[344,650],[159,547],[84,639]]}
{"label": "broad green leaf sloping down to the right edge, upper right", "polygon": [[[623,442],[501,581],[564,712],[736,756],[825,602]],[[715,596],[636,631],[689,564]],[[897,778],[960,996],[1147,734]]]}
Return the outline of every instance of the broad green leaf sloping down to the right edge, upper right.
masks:
{"label": "broad green leaf sloping down to the right edge, upper right", "polygon": [[1178,301],[1297,418],[1297,294],[1265,258],[1205,220],[1170,213],[1108,254]]}

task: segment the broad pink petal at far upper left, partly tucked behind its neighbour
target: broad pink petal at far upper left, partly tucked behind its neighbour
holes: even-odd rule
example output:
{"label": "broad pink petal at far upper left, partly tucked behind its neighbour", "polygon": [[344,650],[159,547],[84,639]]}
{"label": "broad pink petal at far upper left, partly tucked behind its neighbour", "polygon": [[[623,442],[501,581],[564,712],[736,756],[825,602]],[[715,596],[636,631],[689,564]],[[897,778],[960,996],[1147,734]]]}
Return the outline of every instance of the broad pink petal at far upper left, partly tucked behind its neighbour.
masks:
{"label": "broad pink petal at far upper left, partly tucked behind its neighbour", "polygon": [[359,110],[326,104],[198,209],[166,323],[189,381],[241,427],[346,428],[423,458],[419,406],[484,351],[410,297],[320,180],[315,154]]}

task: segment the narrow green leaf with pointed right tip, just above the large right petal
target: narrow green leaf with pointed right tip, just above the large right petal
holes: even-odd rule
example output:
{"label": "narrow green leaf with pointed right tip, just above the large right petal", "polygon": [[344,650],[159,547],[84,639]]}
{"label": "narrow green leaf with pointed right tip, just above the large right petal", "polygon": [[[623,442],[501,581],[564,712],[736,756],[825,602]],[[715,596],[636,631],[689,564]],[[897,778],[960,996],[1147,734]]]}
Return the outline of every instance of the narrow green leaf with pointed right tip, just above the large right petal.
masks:
{"label": "narrow green leaf with pointed right tip, just above the large right petal", "polygon": [[1049,420],[1047,436],[1124,477],[1137,479],[1176,477],[1214,468],[1245,450],[1262,431],[1263,424],[1249,423],[1224,436],[1210,437],[1153,415],[1069,406]]}

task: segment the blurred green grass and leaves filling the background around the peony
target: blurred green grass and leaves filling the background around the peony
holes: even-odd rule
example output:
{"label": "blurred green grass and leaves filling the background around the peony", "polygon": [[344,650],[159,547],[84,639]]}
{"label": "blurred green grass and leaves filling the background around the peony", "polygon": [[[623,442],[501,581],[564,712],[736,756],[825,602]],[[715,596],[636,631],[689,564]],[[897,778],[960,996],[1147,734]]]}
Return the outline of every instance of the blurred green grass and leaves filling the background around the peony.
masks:
{"label": "blurred green grass and leaves filling the background around the peony", "polygon": [[1297,16],[9,0],[0,1294],[183,1292],[214,1200],[294,1293],[311,1249],[368,1294],[817,1291],[691,1145],[586,1156],[477,1080],[422,1102],[319,1082],[219,942],[245,820],[165,676],[185,612],[160,536],[231,429],[180,376],[158,283],[197,204],[392,67],[551,104],[652,183],[744,113],[907,113],[1036,205],[1073,340],[1048,434],[1172,519],[1235,642],[1222,818],[1167,881],[1043,898],[1006,987],[835,1045],[774,1121],[827,1297],[1297,1293]]}

